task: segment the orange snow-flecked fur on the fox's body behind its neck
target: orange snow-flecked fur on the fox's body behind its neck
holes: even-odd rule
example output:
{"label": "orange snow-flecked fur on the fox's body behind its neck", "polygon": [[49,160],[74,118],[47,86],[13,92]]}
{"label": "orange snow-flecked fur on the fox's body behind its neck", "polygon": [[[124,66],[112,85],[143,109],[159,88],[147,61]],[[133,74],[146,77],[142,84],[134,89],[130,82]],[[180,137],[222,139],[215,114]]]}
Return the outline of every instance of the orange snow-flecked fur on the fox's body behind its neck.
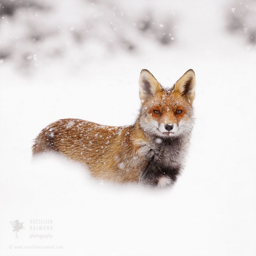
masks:
{"label": "orange snow-flecked fur on the fox's body behind its neck", "polygon": [[[86,164],[95,177],[138,182],[139,168],[136,164],[127,166],[124,163],[140,148],[140,140],[145,139],[138,124],[113,127],[80,119],[61,119],[39,133],[33,154],[53,150]],[[127,171],[129,168],[131,172]]]}

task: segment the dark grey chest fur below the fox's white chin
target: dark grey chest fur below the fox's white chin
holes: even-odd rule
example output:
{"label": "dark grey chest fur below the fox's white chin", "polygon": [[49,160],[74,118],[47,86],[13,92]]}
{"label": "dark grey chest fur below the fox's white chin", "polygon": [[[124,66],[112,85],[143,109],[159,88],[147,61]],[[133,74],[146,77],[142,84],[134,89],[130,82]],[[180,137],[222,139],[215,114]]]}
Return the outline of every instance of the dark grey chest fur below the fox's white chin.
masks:
{"label": "dark grey chest fur below the fox's white chin", "polygon": [[158,144],[152,141],[148,152],[148,163],[140,175],[140,181],[146,185],[156,186],[158,179],[169,177],[177,180],[188,148],[188,138],[166,138]]}

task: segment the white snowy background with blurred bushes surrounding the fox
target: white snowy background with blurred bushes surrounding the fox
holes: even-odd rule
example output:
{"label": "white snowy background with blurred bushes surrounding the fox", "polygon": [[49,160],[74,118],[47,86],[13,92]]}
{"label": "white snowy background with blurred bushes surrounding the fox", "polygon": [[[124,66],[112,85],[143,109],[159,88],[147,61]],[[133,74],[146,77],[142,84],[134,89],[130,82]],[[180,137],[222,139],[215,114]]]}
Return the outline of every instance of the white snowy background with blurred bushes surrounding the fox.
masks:
{"label": "white snowy background with blurred bushes surrounding the fox", "polygon": [[[0,3],[0,255],[256,254],[255,1]],[[32,160],[33,139],[58,119],[132,124],[143,68],[166,87],[196,73],[196,124],[173,189]],[[52,230],[30,230],[37,219]],[[25,222],[19,239],[13,220]]]}

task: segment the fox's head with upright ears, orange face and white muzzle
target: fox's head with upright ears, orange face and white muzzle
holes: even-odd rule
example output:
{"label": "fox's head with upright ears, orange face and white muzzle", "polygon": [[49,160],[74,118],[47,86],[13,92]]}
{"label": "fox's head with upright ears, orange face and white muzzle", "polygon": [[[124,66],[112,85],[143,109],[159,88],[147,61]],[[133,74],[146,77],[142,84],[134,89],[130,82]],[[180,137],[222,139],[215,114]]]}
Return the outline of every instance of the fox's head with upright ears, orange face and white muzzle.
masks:
{"label": "fox's head with upright ears, orange face and white muzzle", "polygon": [[193,128],[196,77],[189,69],[172,88],[164,89],[147,70],[140,73],[140,127],[160,138],[188,134]]}

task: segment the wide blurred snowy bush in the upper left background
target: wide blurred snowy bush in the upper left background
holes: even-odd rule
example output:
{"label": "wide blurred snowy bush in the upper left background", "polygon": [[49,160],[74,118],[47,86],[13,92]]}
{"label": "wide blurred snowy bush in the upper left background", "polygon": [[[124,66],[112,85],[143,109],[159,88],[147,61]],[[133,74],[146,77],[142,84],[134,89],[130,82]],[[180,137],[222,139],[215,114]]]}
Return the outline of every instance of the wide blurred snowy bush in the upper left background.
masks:
{"label": "wide blurred snowy bush in the upper left background", "polygon": [[0,33],[2,62],[26,68],[70,51],[88,60],[140,51],[148,42],[170,45],[174,23],[170,10],[147,1],[1,0]]}

